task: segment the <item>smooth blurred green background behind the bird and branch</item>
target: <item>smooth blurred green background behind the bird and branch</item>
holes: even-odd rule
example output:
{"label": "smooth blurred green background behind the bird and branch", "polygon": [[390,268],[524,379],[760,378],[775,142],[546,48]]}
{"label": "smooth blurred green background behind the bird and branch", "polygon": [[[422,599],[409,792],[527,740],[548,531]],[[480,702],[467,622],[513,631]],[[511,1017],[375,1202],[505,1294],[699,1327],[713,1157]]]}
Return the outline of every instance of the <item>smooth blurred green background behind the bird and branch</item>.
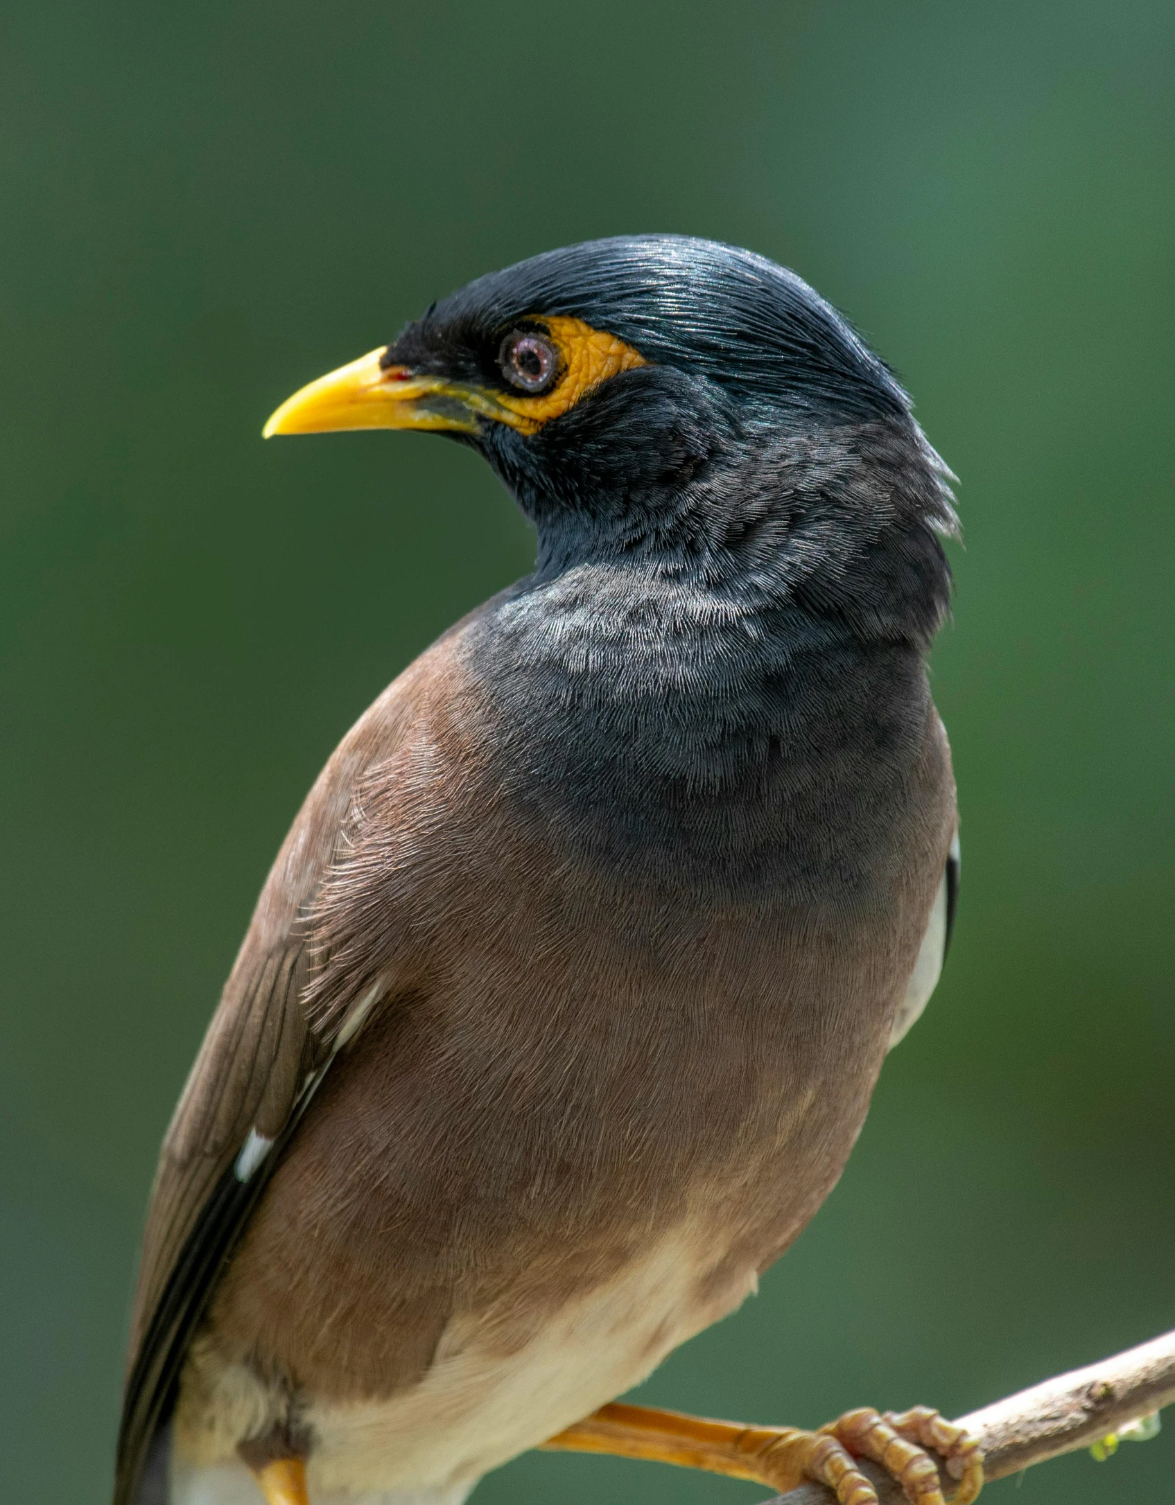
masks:
{"label": "smooth blurred green background behind the bird and branch", "polygon": [[[966,524],[948,974],[812,1228],[643,1395],[958,1415],[1175,1324],[1169,0],[0,26],[5,1499],[104,1502],[155,1150],[258,886],[354,716],[530,561],[456,445],[261,424],[468,277],[616,232],[815,283]],[[1175,1427],[1015,1499],[1172,1472]],[[762,1494],[532,1455],[478,1505]]]}

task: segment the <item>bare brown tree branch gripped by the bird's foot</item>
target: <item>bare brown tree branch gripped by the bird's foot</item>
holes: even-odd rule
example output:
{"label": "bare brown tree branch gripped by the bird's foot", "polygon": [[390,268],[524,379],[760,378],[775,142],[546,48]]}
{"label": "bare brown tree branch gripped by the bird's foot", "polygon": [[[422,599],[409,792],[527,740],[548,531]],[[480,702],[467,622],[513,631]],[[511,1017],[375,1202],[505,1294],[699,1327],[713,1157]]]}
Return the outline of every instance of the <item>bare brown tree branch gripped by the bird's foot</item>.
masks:
{"label": "bare brown tree branch gripped by the bird's foot", "polygon": [[[985,1476],[1000,1479],[1032,1463],[1088,1448],[1127,1422],[1172,1403],[1175,1332],[960,1416],[958,1425],[979,1439],[987,1458]],[[871,1463],[860,1467],[877,1485],[881,1505],[904,1505],[905,1496],[887,1475]],[[943,1476],[945,1488],[952,1484]],[[803,1484],[777,1494],[770,1505],[829,1505],[830,1499],[822,1484]]]}

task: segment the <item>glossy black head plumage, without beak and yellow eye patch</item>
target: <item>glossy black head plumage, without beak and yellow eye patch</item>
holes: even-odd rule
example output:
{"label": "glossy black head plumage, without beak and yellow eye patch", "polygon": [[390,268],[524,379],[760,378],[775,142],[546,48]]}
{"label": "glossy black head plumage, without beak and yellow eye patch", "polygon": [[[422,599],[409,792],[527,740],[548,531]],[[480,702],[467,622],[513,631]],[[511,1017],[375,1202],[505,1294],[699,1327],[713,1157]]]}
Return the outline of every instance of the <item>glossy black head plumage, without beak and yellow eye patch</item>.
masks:
{"label": "glossy black head plumage, without beak and yellow eye patch", "polygon": [[714,241],[588,241],[440,299],[384,360],[503,388],[503,336],[557,315],[648,364],[535,433],[488,421],[468,439],[538,524],[541,575],[639,554],[928,640],[949,596],[949,471],[893,373],[807,283]]}

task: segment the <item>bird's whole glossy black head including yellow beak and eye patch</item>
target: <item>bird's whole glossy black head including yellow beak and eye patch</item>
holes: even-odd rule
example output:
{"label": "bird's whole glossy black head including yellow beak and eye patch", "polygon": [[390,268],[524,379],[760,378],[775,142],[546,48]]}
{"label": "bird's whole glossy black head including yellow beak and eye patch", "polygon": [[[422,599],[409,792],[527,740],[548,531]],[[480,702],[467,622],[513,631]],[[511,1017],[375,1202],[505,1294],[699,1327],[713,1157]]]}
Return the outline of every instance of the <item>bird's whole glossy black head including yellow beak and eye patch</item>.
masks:
{"label": "bird's whole glossy black head including yellow beak and eye patch", "polygon": [[832,578],[887,530],[954,528],[887,367],[794,272],[714,241],[588,241],[479,277],[295,393],[265,435],[333,429],[472,444],[547,560],[753,537],[791,552],[792,576],[821,555]]}

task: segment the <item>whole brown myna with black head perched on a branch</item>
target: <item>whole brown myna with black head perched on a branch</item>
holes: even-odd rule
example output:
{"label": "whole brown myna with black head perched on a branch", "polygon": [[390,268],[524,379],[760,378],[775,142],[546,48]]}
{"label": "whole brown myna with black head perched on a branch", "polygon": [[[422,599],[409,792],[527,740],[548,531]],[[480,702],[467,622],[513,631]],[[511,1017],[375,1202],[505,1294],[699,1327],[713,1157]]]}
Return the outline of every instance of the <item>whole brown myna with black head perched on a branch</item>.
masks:
{"label": "whole brown myna with black head perched on a branch", "polygon": [[966,1505],[929,1407],[618,1401],[836,1183],[958,892],[926,655],[954,476],[797,274],[676,235],[542,251],[270,435],[440,433],[530,575],[343,736],[167,1130],[114,1505],[459,1505],[550,1446]]}

